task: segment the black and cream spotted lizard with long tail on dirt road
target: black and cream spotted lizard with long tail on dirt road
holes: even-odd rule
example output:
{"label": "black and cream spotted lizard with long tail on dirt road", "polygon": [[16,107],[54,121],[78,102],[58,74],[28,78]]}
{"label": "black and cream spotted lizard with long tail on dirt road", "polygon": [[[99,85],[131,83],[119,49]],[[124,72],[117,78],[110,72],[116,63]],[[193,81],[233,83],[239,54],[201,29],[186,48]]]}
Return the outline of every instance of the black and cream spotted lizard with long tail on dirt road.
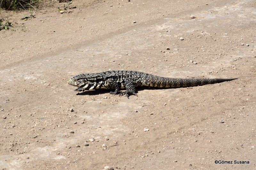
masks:
{"label": "black and cream spotted lizard with long tail on dirt road", "polygon": [[153,74],[142,73],[138,71],[106,71],[101,73],[79,74],[68,80],[68,84],[78,87],[75,89],[78,93],[84,90],[95,89],[115,89],[110,94],[117,95],[120,89],[126,89],[119,95],[138,96],[135,87],[149,86],[157,88],[181,88],[202,86],[206,84],[221,83],[224,81],[236,80],[230,79],[191,79],[191,78],[168,78]]}

